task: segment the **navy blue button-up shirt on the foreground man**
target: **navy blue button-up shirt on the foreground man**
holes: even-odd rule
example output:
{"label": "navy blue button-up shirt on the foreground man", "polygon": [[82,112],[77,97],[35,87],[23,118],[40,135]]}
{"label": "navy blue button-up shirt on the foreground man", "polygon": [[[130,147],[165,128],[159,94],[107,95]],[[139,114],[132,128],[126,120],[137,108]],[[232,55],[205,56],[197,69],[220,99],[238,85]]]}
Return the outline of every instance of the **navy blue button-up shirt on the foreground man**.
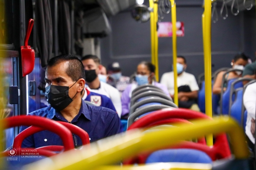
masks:
{"label": "navy blue button-up shirt on the foreground man", "polygon": [[[68,122],[61,113],[51,106],[29,113],[29,115],[42,116],[55,121]],[[120,129],[120,119],[115,111],[99,106],[87,105],[83,100],[78,115],[76,115],[70,123],[85,130],[89,134],[90,142],[117,134]],[[20,132],[25,130],[27,127],[28,126],[21,126]],[[79,136],[74,136],[75,145],[81,146],[82,142]],[[48,145],[63,145],[63,143],[57,134],[48,130],[35,133],[24,139],[22,143],[22,147],[31,148]]]}

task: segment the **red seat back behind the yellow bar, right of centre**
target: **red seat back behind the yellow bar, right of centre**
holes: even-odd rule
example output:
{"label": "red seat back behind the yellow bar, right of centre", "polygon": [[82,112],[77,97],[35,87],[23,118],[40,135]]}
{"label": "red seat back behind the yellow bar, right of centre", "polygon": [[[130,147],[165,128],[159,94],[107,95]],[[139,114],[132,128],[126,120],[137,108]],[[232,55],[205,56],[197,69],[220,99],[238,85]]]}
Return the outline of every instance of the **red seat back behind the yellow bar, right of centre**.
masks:
{"label": "red seat back behind the yellow bar, right of centre", "polygon": [[[148,127],[152,125],[160,125],[170,121],[178,121],[182,122],[180,119],[211,119],[209,116],[206,116],[203,113],[191,111],[188,109],[162,109],[160,111],[156,111],[154,113],[148,114],[143,116],[136,122],[134,122],[128,130],[140,127]],[[184,121],[183,121],[184,122]],[[184,122],[185,123],[185,122]],[[203,142],[203,141],[201,141]],[[230,147],[227,141],[227,136],[225,134],[221,134],[216,136],[215,143],[212,147],[208,147],[206,144],[203,143],[195,143],[195,142],[180,142],[175,146],[167,147],[169,148],[188,148],[188,149],[197,149],[201,150],[212,160],[227,158],[231,156]],[[153,152],[154,150],[150,150],[145,153],[141,153],[140,155],[126,159],[123,163],[124,164],[144,164],[147,157]]]}

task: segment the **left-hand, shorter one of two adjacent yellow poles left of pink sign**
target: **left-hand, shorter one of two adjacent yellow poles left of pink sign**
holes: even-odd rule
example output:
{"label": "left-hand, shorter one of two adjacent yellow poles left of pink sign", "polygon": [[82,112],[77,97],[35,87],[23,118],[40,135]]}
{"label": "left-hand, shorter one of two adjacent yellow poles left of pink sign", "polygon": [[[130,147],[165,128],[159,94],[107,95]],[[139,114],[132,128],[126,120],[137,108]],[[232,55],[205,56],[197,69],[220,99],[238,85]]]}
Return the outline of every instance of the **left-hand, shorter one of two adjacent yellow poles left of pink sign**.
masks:
{"label": "left-hand, shorter one of two adjacent yellow poles left of pink sign", "polygon": [[[154,10],[154,0],[149,0],[149,7]],[[151,33],[151,62],[154,64],[155,56],[155,35],[154,35],[154,11],[150,12],[150,33]]]}

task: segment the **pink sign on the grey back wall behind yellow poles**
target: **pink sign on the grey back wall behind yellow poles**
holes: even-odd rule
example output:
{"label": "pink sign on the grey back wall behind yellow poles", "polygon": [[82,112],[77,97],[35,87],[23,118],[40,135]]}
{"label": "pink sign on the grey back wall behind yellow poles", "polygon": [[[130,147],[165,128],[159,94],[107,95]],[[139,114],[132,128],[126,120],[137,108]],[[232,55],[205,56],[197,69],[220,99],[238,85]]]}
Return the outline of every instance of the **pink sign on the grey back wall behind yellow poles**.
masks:
{"label": "pink sign on the grey back wall behind yellow poles", "polygon": [[[184,37],[184,23],[177,22],[177,37]],[[158,23],[158,37],[172,37],[172,23],[171,22],[161,22]]]}

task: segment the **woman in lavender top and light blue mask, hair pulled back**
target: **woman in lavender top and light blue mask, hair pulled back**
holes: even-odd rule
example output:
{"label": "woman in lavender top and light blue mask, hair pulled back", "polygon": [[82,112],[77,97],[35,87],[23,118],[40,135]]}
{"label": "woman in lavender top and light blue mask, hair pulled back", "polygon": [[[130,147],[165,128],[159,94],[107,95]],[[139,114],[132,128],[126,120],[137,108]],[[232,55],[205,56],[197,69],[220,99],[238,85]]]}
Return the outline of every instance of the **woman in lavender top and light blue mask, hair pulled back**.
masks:
{"label": "woman in lavender top and light blue mask, hair pulled back", "polygon": [[128,113],[130,111],[130,102],[131,102],[131,93],[132,91],[140,85],[151,84],[162,89],[163,92],[169,96],[169,92],[165,85],[160,84],[159,82],[154,81],[155,75],[155,66],[151,62],[141,62],[137,67],[136,83],[131,83],[125,89],[122,94],[122,117],[127,119]]}

